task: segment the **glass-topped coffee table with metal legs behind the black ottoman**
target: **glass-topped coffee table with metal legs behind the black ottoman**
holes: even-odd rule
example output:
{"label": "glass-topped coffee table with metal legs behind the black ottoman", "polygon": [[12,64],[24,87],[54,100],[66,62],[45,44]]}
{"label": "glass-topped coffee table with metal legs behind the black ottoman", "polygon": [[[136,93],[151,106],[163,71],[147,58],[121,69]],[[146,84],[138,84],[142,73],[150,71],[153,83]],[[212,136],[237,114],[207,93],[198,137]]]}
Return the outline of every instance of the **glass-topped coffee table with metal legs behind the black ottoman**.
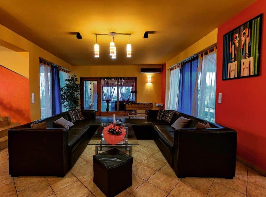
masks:
{"label": "glass-topped coffee table with metal legs behind the black ottoman", "polygon": [[[131,124],[123,124],[126,134],[125,136],[119,136],[119,140],[116,144],[111,144],[104,138],[103,129],[111,123],[102,123],[96,132],[93,134],[93,137],[90,139],[88,145],[95,145],[95,154],[98,154],[98,151],[102,151],[103,148],[122,148],[126,151],[129,151],[129,155],[132,155],[132,145],[139,145],[137,138],[135,136],[134,130]],[[110,134],[109,134],[110,135]],[[113,137],[118,137],[113,135]],[[123,138],[123,139],[122,139]]]}

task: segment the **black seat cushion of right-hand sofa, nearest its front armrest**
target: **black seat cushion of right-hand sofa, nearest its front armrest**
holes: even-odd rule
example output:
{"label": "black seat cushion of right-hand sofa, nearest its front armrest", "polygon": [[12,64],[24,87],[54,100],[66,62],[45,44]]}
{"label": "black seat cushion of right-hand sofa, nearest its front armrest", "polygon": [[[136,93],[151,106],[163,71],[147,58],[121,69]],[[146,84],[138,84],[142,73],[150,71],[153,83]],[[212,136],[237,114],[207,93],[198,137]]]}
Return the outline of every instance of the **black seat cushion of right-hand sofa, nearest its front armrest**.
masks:
{"label": "black seat cushion of right-hand sofa, nearest its front armrest", "polygon": [[163,142],[168,149],[173,152],[175,130],[170,125],[157,124],[153,125],[157,137]]}

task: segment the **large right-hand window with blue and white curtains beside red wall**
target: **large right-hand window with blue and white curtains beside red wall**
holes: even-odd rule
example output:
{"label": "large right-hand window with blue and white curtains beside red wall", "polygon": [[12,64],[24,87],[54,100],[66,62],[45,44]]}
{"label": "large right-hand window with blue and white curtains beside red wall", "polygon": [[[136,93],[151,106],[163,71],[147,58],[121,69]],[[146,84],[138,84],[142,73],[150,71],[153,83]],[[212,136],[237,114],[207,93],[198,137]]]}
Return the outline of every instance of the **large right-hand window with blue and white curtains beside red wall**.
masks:
{"label": "large right-hand window with blue and white curtains beside red wall", "polygon": [[[216,49],[200,54],[195,68],[192,59],[170,69],[168,109],[214,122]],[[188,67],[189,63],[192,66]]]}

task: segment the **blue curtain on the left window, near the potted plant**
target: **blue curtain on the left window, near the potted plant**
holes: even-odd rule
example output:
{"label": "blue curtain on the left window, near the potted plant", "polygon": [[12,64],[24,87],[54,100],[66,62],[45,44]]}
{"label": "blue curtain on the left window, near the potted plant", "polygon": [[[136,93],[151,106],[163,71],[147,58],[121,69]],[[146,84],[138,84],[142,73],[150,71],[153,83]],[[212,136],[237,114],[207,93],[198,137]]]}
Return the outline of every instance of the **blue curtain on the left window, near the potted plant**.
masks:
{"label": "blue curtain on the left window, near the potted plant", "polygon": [[62,113],[59,69],[52,66],[52,115]]}

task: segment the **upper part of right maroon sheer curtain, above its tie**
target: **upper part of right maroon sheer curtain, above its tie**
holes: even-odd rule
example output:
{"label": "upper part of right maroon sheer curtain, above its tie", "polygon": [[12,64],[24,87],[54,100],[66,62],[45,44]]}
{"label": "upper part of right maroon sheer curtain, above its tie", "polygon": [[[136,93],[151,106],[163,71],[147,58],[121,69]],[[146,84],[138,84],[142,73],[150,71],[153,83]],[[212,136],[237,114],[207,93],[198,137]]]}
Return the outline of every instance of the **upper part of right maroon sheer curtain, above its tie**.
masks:
{"label": "upper part of right maroon sheer curtain, above its tie", "polygon": [[118,79],[118,86],[123,103],[129,101],[131,91],[135,85],[135,79]]}

